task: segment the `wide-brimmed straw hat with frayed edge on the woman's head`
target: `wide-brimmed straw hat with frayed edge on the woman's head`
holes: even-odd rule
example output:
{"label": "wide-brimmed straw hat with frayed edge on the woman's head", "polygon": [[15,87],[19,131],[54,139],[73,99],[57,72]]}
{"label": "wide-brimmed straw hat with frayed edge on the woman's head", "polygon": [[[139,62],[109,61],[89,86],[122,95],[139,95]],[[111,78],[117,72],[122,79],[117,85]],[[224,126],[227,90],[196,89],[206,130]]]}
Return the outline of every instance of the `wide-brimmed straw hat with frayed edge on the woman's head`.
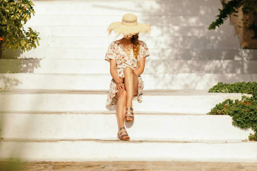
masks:
{"label": "wide-brimmed straw hat with frayed edge on the woman's head", "polygon": [[122,33],[125,38],[129,38],[139,32],[150,34],[152,28],[149,24],[137,23],[136,15],[128,13],[123,15],[121,22],[116,21],[108,26],[107,32],[109,35],[112,30],[118,33],[116,37]]}

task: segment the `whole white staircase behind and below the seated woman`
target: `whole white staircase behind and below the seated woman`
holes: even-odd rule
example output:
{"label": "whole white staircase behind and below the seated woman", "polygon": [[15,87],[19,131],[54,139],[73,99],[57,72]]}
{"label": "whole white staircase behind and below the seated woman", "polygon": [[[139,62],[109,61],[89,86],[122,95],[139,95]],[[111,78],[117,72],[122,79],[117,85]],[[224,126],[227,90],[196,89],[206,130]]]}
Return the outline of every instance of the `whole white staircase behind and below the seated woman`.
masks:
{"label": "whole white staircase behind and below the seated woman", "polygon": [[[252,130],[206,115],[246,95],[208,93],[213,85],[257,81],[257,50],[240,49],[229,19],[208,30],[220,1],[33,2],[26,26],[41,33],[40,46],[5,50],[0,60],[1,160],[257,162],[257,143],[243,141]],[[111,75],[103,59],[116,40],[107,25],[125,13],[153,32],[139,35],[150,52],[143,99],[125,123],[130,141],[119,141],[115,111],[105,109]]]}

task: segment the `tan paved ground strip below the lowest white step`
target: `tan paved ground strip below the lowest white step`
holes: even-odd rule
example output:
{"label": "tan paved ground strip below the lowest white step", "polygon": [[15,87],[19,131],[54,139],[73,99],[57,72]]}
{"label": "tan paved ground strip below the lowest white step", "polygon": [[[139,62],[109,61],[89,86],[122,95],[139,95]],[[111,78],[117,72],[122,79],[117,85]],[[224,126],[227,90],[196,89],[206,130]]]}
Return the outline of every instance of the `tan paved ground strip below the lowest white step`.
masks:
{"label": "tan paved ground strip below the lowest white step", "polygon": [[[7,167],[10,166],[8,169]],[[19,162],[1,161],[4,170],[112,170],[112,171],[256,171],[257,162],[182,162],[182,161],[101,161],[101,162]]]}

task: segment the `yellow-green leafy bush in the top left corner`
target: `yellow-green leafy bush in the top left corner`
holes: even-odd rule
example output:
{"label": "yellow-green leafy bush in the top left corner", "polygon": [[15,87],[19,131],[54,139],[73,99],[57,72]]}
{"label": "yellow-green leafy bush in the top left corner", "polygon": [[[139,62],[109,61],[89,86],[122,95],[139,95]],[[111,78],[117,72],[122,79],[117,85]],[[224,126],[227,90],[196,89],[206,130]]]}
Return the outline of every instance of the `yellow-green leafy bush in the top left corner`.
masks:
{"label": "yellow-green leafy bush in the top left corner", "polygon": [[34,15],[34,4],[29,0],[0,0],[0,45],[13,50],[29,51],[39,46],[39,32],[24,30],[23,25]]}

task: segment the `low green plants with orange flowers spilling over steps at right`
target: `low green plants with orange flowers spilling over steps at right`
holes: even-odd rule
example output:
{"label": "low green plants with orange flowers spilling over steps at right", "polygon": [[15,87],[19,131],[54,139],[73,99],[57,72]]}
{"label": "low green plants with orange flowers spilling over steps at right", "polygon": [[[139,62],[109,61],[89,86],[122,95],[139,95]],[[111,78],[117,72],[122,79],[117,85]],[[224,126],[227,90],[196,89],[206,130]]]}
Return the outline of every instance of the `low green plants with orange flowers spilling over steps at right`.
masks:
{"label": "low green plants with orange flowers spilling over steps at right", "polygon": [[257,141],[257,82],[236,82],[234,84],[219,82],[208,92],[252,94],[252,97],[243,95],[241,101],[226,99],[222,103],[216,104],[207,114],[230,115],[233,119],[232,125],[242,129],[251,128],[255,133],[250,133],[248,138],[250,141]]}

